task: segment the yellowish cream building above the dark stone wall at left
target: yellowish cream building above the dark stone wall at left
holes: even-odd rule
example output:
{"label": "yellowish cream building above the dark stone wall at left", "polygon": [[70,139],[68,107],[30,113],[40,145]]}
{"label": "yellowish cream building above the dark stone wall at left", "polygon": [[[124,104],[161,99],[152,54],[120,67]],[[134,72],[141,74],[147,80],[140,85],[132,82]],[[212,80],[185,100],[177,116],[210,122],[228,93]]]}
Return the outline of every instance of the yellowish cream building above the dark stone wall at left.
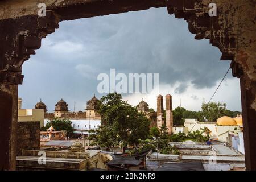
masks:
{"label": "yellowish cream building above the dark stone wall at left", "polygon": [[18,122],[40,121],[40,127],[44,126],[43,109],[18,109]]}

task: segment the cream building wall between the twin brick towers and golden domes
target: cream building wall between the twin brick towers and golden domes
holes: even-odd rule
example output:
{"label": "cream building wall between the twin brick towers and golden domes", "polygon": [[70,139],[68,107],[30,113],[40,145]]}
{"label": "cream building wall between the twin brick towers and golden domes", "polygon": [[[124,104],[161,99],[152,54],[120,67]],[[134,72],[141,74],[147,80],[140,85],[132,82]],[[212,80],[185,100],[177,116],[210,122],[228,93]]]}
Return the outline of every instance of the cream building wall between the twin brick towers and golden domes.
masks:
{"label": "cream building wall between the twin brick towers and golden domes", "polygon": [[[216,136],[216,123],[203,123],[203,122],[197,122],[196,125],[196,119],[185,119],[184,126],[188,128],[188,131],[196,131],[204,127],[207,127],[210,130],[210,136]],[[195,125],[195,126],[194,126]]]}

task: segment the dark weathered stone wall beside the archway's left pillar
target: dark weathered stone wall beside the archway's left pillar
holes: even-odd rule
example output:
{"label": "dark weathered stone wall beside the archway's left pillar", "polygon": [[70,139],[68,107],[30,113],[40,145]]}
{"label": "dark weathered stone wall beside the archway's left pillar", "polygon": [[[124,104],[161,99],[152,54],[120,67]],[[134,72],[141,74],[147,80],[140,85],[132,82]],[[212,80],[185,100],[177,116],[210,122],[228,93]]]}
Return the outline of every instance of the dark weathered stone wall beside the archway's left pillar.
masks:
{"label": "dark weathered stone wall beside the archway's left pillar", "polygon": [[40,122],[18,122],[17,155],[22,155],[22,149],[40,149]]}

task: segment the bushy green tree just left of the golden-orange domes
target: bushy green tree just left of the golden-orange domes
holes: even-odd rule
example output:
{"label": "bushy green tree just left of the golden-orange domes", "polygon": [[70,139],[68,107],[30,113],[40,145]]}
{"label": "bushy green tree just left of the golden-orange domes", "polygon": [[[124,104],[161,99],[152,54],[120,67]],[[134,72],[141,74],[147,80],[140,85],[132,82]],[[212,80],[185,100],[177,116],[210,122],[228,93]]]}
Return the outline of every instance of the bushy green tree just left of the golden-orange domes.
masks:
{"label": "bushy green tree just left of the golden-orange domes", "polygon": [[225,115],[226,104],[210,102],[210,104],[207,105],[203,103],[201,108],[200,121],[216,122],[218,118]]}

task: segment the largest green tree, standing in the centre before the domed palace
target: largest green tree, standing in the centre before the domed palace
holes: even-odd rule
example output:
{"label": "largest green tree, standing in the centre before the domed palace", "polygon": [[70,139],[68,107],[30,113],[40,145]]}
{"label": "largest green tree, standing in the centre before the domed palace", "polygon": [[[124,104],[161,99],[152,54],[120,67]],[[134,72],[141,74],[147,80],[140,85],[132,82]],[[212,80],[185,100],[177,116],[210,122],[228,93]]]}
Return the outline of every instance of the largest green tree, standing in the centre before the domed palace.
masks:
{"label": "largest green tree, standing in the centre before the domed palace", "polygon": [[139,139],[149,135],[150,121],[137,109],[122,100],[121,94],[109,93],[100,100],[102,125],[89,138],[101,147],[120,146],[125,150],[128,145],[139,144]]}

